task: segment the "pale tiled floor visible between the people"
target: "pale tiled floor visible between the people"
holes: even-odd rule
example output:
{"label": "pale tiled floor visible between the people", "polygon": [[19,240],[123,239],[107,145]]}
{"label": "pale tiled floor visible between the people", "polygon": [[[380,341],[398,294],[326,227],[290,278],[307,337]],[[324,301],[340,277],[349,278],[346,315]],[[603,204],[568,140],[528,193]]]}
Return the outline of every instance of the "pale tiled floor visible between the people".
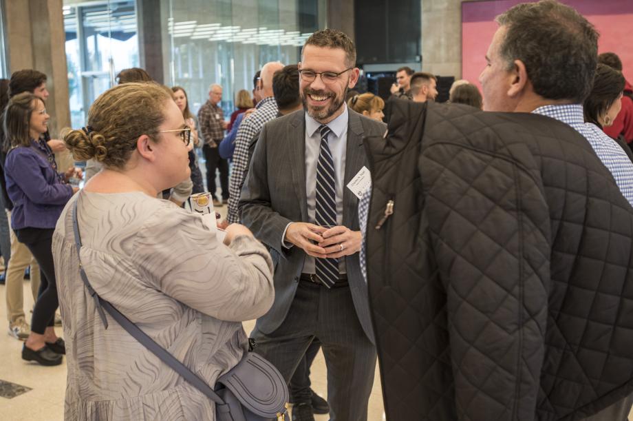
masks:
{"label": "pale tiled floor visible between the people", "polygon": [[[226,212],[226,206],[217,209],[221,214]],[[25,308],[33,305],[28,281],[24,283]],[[28,310],[27,310],[28,311]],[[244,323],[244,329],[250,332],[254,322]],[[7,334],[8,323],[6,321],[5,287],[0,285],[0,420],[63,420],[64,393],[66,384],[66,367],[61,364],[57,367],[41,367],[36,363],[28,363],[21,360],[22,342]],[[58,329],[61,335],[61,329]],[[312,365],[312,388],[321,396],[327,395],[325,381],[325,361],[319,353]],[[4,382],[17,384],[25,389]],[[30,389],[30,390],[27,390]],[[14,398],[3,398],[3,391],[18,394]],[[317,421],[328,420],[328,415],[316,415]],[[380,377],[376,368],[376,380],[374,389],[369,399],[369,421],[384,420],[383,399],[380,392]]]}

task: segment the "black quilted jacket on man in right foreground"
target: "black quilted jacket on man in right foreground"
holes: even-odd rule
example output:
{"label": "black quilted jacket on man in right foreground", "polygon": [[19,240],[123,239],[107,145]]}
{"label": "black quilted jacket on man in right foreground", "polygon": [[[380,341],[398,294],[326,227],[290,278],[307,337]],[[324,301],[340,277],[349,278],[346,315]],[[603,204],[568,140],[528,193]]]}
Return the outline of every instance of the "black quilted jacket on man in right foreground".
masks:
{"label": "black quilted jacket on man in right foreground", "polygon": [[633,209],[582,136],[396,101],[366,145],[388,420],[579,420],[633,391]]}

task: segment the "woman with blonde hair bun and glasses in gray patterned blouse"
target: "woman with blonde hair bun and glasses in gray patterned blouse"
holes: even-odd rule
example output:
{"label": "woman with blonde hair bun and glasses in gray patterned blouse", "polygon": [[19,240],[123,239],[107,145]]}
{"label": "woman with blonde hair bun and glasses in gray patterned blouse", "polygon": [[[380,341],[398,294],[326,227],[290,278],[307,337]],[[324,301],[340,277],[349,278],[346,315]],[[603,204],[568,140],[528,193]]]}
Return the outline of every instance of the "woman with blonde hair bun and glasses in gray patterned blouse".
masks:
{"label": "woman with blonde hair bun and glasses in gray patterned blouse", "polygon": [[160,86],[127,83],[99,96],[87,127],[64,138],[77,160],[104,166],[53,238],[66,420],[215,420],[213,401],[100,316],[85,282],[211,387],[248,350],[242,321],[272,305],[272,261],[246,227],[229,225],[220,241],[199,214],[156,198],[189,177],[190,135]]}

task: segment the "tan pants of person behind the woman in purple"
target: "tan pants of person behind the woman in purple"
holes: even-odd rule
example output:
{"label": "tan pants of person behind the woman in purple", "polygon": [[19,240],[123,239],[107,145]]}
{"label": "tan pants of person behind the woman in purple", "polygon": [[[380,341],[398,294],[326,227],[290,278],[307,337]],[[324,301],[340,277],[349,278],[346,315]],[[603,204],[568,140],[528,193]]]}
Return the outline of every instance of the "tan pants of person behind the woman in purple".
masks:
{"label": "tan pants of person behind the woman in purple", "polygon": [[39,289],[40,273],[39,265],[29,249],[18,241],[17,236],[11,228],[11,212],[7,211],[9,220],[9,232],[11,237],[11,258],[6,271],[6,293],[7,293],[7,318],[12,324],[20,317],[24,316],[23,299],[23,279],[24,271],[31,265],[31,292],[33,299],[37,299]]}

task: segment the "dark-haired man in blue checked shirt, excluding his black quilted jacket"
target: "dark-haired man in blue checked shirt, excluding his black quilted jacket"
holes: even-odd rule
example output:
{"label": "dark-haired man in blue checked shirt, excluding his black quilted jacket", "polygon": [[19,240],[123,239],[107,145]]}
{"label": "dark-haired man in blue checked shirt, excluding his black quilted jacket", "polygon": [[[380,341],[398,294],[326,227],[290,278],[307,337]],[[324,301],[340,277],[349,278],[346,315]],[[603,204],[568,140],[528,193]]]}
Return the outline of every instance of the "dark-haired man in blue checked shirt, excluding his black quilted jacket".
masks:
{"label": "dark-haired man in blue checked shirt, excluding his black quilted jacket", "polygon": [[[633,204],[633,163],[600,127],[584,122],[582,103],[591,92],[597,61],[599,34],[593,25],[553,1],[519,5],[497,22],[500,28],[480,75],[484,110],[533,112],[570,125],[587,139]],[[563,30],[556,28],[561,23]],[[586,420],[627,420],[632,404],[633,398],[626,398]]]}

